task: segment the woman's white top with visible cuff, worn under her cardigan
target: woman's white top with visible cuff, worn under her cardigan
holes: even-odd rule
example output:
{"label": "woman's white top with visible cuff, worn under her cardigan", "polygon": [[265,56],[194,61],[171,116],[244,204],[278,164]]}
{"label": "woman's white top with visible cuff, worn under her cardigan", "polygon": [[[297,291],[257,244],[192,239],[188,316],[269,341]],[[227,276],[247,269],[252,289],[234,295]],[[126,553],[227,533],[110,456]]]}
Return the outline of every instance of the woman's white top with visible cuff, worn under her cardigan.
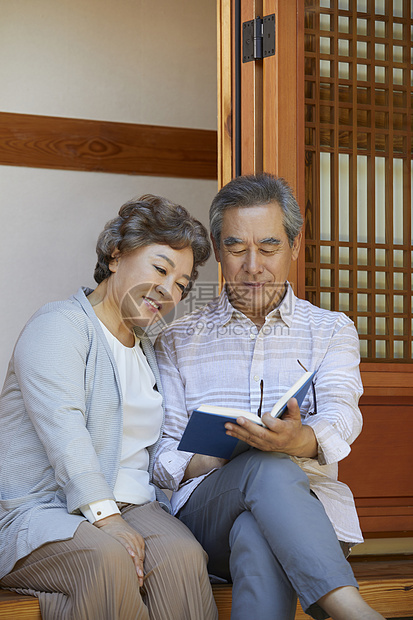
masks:
{"label": "woman's white top with visible cuff, worn under her cardigan", "polygon": [[[120,467],[114,496],[117,502],[145,504],[155,500],[149,484],[148,446],[156,442],[162,424],[162,396],[154,389],[155,377],[135,336],[125,347],[100,321],[118,368],[123,398],[123,435]],[[92,502],[80,510],[92,523],[118,512],[111,500]]]}

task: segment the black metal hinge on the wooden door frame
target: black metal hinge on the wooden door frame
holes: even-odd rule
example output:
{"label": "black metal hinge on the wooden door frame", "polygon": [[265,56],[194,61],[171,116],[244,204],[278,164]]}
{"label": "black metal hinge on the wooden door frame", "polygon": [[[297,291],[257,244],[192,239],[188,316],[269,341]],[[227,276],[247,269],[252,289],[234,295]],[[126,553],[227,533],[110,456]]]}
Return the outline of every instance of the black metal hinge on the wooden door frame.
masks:
{"label": "black metal hinge on the wooden door frame", "polygon": [[242,24],[242,62],[275,56],[275,13]]}

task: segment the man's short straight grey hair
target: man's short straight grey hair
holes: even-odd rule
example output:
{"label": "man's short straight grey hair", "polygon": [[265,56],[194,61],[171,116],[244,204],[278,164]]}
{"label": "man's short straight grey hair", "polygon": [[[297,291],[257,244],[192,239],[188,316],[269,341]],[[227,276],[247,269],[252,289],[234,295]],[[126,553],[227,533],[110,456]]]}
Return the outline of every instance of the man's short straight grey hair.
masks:
{"label": "man's short straight grey hair", "polygon": [[265,205],[270,202],[276,202],[282,209],[285,234],[292,247],[303,225],[300,207],[287,181],[266,172],[236,177],[215,196],[209,210],[209,224],[218,246],[221,243],[222,220],[227,209]]}

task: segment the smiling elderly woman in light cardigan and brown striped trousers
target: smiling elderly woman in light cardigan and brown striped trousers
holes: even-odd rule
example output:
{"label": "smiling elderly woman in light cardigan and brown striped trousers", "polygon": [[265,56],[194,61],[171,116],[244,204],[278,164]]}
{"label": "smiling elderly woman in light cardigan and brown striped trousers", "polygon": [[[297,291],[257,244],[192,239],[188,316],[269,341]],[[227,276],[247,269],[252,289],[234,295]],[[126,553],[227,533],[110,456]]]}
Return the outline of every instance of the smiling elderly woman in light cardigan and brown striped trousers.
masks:
{"label": "smiling elderly woman in light cardigan and brown striped trousers", "polygon": [[145,328],[210,246],[179,205],[142,196],[97,243],[92,291],[41,308],[0,397],[0,586],[43,620],[216,618],[206,556],[151,483],[162,391]]}

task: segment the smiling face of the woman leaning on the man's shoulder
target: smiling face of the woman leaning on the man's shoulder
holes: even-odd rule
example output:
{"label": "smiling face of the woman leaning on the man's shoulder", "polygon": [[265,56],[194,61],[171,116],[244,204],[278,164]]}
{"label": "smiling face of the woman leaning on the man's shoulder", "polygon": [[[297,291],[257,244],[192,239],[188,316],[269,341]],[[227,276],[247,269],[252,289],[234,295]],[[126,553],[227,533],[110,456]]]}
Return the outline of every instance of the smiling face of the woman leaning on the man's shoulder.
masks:
{"label": "smiling face of the woman leaning on the man's shoulder", "polygon": [[115,251],[108,289],[124,323],[145,328],[168,314],[188,285],[193,263],[190,247],[154,244],[126,254]]}

